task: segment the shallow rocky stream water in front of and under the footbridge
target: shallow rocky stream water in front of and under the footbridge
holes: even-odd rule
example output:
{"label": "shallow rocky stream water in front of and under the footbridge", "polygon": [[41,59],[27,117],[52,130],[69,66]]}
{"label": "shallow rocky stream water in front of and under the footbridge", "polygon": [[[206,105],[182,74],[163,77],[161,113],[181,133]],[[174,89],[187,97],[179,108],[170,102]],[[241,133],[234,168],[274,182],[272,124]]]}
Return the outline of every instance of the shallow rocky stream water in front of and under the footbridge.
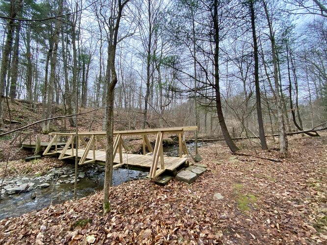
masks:
{"label": "shallow rocky stream water in front of and under the footbridge", "polygon": [[[74,198],[74,165],[55,168],[42,176],[16,176],[5,178],[3,187],[29,184],[32,187],[26,193],[8,195],[2,190],[0,200],[0,220],[16,217],[27,212],[40,210],[50,204],[58,204]],[[82,174],[81,174],[82,173]],[[92,195],[103,189],[104,167],[97,165],[79,167],[80,178],[77,183],[78,198]],[[84,175],[84,176],[83,176]],[[143,178],[148,172],[116,169],[113,171],[112,185]],[[42,184],[48,187],[42,187]]]}

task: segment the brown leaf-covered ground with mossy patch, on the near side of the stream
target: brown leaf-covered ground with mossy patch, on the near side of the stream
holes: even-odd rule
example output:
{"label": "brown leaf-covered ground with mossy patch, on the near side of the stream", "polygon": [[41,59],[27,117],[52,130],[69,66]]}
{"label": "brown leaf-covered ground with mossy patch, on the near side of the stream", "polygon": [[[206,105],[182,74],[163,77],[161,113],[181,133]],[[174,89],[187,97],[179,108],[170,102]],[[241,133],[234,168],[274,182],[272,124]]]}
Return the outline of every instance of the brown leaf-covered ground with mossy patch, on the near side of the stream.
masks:
{"label": "brown leaf-covered ground with mossy patch, on the near side of the stream", "polygon": [[232,155],[222,143],[201,147],[209,171],[191,185],[143,179],[112,187],[105,216],[99,192],[8,218],[0,221],[0,244],[326,244],[327,134],[321,134],[289,137],[286,158],[256,141],[237,142],[242,153],[281,162]]}

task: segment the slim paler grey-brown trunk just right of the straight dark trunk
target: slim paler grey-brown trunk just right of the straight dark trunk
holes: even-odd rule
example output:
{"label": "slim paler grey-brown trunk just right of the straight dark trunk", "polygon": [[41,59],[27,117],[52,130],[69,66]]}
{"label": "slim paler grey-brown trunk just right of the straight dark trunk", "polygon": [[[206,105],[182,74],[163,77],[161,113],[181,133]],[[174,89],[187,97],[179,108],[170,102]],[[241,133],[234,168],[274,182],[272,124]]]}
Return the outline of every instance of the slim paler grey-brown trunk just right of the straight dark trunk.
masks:
{"label": "slim paler grey-brown trunk just right of the straight dark trunk", "polygon": [[274,71],[274,81],[275,81],[275,99],[276,99],[276,107],[277,107],[277,117],[278,117],[278,133],[279,133],[279,147],[280,152],[283,154],[287,154],[287,135],[285,131],[285,123],[284,123],[284,115],[282,108],[282,98],[280,96],[279,91],[279,81],[278,81],[278,70],[277,70],[277,61],[276,61],[276,53],[275,53],[275,39],[273,34],[273,26],[270,22],[269,12],[266,5],[266,2],[263,1],[263,6],[265,9],[269,32],[270,32],[270,41],[272,47],[272,55],[273,55],[273,71]]}

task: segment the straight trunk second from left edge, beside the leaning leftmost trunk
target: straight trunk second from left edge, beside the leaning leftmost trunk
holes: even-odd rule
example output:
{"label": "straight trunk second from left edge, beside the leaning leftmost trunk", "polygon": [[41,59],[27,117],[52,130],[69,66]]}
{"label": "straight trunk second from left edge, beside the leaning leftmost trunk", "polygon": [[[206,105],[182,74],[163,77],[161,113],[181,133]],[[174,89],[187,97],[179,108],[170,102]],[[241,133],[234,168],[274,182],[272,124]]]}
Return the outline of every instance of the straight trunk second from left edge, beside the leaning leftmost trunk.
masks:
{"label": "straight trunk second from left edge, beside the leaning leftmost trunk", "polygon": [[21,22],[18,21],[16,25],[16,36],[15,36],[15,44],[14,44],[14,57],[12,61],[12,72],[11,72],[11,82],[10,82],[10,99],[11,102],[15,101],[17,94],[17,75],[18,75],[18,64],[19,64],[19,37],[21,30]]}

